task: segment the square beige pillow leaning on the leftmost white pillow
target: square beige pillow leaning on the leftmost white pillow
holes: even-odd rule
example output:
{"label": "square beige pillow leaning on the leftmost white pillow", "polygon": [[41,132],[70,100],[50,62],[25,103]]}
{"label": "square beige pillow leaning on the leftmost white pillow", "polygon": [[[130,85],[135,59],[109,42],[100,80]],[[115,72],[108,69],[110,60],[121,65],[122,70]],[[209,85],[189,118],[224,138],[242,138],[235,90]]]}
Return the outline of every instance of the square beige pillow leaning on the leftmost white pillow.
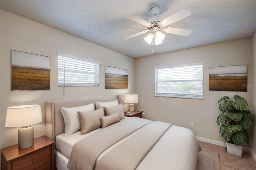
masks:
{"label": "square beige pillow leaning on the leftmost white pillow", "polygon": [[96,128],[102,127],[100,117],[104,117],[103,108],[95,111],[78,111],[78,116],[81,124],[81,134],[86,134]]}

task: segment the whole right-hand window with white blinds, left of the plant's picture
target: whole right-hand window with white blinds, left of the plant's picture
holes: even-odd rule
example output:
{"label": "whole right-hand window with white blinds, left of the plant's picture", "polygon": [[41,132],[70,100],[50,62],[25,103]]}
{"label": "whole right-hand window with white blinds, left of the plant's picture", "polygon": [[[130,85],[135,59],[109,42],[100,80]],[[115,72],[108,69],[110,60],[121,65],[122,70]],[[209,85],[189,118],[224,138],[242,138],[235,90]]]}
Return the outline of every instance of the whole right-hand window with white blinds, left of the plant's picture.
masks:
{"label": "whole right-hand window with white blinds, left of the plant's picture", "polygon": [[203,99],[203,63],[156,67],[155,96]]}

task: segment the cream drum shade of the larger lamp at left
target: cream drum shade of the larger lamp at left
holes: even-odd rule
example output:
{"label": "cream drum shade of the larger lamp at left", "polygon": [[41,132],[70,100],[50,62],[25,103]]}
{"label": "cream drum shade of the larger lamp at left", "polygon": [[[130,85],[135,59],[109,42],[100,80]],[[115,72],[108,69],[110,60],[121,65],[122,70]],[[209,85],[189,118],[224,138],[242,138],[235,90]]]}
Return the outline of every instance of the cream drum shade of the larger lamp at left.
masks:
{"label": "cream drum shade of the larger lamp at left", "polygon": [[40,105],[21,105],[7,108],[5,127],[26,127],[42,122]]}

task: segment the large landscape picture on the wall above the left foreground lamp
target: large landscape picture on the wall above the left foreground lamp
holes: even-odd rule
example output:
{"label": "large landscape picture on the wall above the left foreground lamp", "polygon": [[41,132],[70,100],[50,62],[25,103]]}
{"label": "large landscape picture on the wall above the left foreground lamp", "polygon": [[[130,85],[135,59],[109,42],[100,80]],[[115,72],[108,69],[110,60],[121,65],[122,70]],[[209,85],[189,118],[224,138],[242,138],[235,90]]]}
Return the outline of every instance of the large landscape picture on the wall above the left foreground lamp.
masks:
{"label": "large landscape picture on the wall above the left foreground lamp", "polygon": [[50,90],[50,57],[11,50],[12,91]]}

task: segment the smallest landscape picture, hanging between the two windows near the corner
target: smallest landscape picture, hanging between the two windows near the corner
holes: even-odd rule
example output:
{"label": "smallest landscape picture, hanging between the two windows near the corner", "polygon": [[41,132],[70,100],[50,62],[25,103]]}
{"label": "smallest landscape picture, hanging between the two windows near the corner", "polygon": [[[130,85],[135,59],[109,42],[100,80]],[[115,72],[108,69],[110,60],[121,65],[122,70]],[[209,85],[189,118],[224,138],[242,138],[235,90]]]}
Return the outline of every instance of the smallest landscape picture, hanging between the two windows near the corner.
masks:
{"label": "smallest landscape picture, hanging between the two windows near the corner", "polygon": [[105,66],[105,89],[128,89],[128,70]]}

